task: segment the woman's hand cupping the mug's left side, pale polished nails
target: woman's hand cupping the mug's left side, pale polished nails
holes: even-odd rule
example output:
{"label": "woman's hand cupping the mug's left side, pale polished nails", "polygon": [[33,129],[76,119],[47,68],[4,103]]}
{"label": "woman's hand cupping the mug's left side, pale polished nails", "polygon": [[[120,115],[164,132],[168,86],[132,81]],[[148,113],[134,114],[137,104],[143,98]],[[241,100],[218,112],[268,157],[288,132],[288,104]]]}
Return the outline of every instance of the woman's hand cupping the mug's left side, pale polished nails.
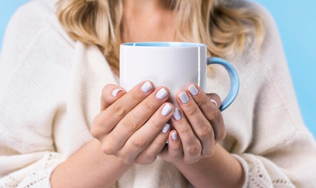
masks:
{"label": "woman's hand cupping the mug's left side, pale polished nails", "polygon": [[115,84],[104,86],[100,113],[91,127],[103,153],[127,164],[152,163],[170,132],[167,122],[174,106],[166,102],[169,97],[167,87],[155,89],[151,81],[140,82],[129,92]]}

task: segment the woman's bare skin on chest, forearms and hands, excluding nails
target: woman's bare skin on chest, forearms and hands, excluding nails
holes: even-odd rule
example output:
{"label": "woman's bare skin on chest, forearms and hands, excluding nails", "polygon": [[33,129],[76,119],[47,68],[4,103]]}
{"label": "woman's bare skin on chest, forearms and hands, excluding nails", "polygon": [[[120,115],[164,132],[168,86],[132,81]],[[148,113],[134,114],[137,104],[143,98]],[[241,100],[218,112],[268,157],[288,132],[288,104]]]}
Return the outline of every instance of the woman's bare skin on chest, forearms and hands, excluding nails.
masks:
{"label": "woman's bare skin on chest, forearms and hands, excluding nails", "polygon": [[[124,2],[123,42],[176,40],[173,13],[161,2]],[[152,19],[144,19],[148,14]],[[161,32],[166,29],[169,32]],[[112,67],[112,70],[119,74],[117,69]],[[166,104],[175,109],[166,102],[170,97],[169,89],[148,81],[153,86],[148,92],[141,90],[145,81],[129,92],[114,84],[104,86],[101,109],[91,128],[94,139],[54,170],[50,179],[52,187],[110,187],[133,163],[150,164],[157,156],[175,165],[195,187],[242,186],[245,179],[242,166],[218,144],[226,135],[223,116],[218,109],[219,96],[203,92],[196,84],[199,92],[193,96],[188,90],[191,84],[188,84],[178,92],[185,91],[189,102],[183,104],[177,97],[179,107],[176,108],[182,118],[176,120],[174,111],[167,116],[161,114]],[[111,93],[116,88],[122,90],[113,97]],[[167,90],[168,96],[158,100],[155,93],[161,88]],[[175,130],[163,133],[168,121]],[[175,132],[176,140],[172,138]],[[169,144],[165,144],[168,138]]]}

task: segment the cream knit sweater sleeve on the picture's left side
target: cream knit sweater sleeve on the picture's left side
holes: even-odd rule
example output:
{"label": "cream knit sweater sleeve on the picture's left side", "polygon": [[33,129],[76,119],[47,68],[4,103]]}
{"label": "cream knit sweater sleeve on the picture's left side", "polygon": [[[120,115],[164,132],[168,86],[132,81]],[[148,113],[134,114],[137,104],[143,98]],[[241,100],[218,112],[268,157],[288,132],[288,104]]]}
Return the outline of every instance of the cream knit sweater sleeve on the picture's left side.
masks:
{"label": "cream knit sweater sleeve on the picture's left side", "polygon": [[[52,170],[66,160],[55,148],[52,125],[65,106],[63,75],[72,48],[50,24],[41,2],[32,1],[14,14],[3,43],[0,187],[50,187]],[[60,52],[64,60],[58,59]]]}

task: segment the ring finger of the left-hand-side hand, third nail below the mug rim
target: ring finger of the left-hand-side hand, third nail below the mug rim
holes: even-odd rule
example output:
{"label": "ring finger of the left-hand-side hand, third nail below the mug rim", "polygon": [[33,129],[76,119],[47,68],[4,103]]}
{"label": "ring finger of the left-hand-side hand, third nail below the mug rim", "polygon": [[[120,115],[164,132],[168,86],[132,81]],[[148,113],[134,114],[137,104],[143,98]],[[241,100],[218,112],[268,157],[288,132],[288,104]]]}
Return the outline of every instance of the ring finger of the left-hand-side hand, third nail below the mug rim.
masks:
{"label": "ring finger of the left-hand-side hand, third nail below the mug rim", "polygon": [[150,119],[126,141],[121,149],[123,155],[129,155],[130,160],[135,159],[158,133],[161,131],[167,132],[165,126],[172,117],[173,112],[174,107],[171,103],[162,105]]}

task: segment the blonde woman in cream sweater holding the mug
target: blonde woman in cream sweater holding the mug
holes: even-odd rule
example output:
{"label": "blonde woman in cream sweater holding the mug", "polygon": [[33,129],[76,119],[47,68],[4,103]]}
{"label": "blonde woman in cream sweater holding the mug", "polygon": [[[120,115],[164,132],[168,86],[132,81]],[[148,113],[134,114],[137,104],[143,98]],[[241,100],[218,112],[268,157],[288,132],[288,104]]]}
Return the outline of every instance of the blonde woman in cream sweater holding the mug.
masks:
{"label": "blonde woman in cream sweater holding the mug", "polygon": [[[236,67],[239,96],[218,110],[217,67],[179,107],[150,80],[126,92],[118,47],[134,41],[207,44]],[[11,19],[0,66],[0,187],[316,185],[277,28],[252,3],[35,0]]]}

